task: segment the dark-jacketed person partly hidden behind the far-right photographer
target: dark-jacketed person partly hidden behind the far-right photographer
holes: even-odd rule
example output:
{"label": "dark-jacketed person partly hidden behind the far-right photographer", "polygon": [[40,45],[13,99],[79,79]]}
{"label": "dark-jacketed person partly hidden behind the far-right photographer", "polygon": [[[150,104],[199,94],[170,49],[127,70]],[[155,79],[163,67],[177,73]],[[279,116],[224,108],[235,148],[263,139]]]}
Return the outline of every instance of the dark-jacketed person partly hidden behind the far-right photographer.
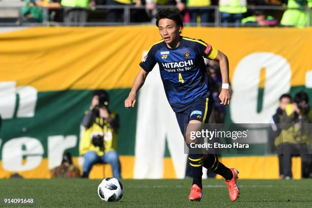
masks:
{"label": "dark-jacketed person partly hidden behind the far-right photographer", "polygon": [[[285,110],[286,106],[292,102],[292,97],[290,94],[282,94],[279,97],[279,106],[276,110],[276,113],[270,119],[270,134],[269,134],[269,145],[271,148],[271,152],[275,152],[274,141],[280,135],[281,129],[279,126],[280,119],[283,115],[283,111]],[[279,166],[279,177],[284,178],[283,174],[283,164],[282,164],[282,154],[278,154],[278,166]]]}

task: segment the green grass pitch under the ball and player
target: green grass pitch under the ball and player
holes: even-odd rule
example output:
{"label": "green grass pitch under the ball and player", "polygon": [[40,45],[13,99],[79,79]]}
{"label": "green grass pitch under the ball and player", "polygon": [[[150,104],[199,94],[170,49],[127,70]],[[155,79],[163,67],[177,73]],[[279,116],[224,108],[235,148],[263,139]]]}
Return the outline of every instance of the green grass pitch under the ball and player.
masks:
{"label": "green grass pitch under the ball and player", "polygon": [[[312,207],[312,180],[239,180],[241,197],[231,202],[223,180],[204,179],[203,198],[188,202],[191,179],[121,180],[124,195],[103,202],[100,180],[1,179],[0,207]],[[34,204],[5,204],[4,198],[33,198]]]}

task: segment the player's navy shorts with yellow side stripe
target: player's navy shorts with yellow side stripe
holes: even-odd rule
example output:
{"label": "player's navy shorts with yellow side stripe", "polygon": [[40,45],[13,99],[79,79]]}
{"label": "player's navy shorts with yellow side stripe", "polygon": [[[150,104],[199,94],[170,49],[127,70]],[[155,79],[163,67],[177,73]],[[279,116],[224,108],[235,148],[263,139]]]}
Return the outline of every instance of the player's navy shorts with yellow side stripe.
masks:
{"label": "player's navy shorts with yellow side stripe", "polygon": [[202,123],[208,123],[210,114],[213,109],[213,99],[198,98],[193,102],[193,105],[185,111],[175,113],[181,133],[184,136],[184,125],[188,124],[190,120],[198,120]]}

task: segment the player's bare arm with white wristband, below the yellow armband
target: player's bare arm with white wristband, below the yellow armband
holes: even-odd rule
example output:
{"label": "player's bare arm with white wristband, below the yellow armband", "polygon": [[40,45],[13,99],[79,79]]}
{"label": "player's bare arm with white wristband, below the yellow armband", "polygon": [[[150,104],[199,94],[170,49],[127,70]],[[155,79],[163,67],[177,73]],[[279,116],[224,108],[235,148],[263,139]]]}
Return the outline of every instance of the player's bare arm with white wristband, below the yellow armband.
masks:
{"label": "player's bare arm with white wristband, below the yellow armband", "polygon": [[[219,98],[221,100],[220,104],[225,106],[229,105],[231,94],[228,90],[228,59],[227,57],[219,50],[218,55],[216,57],[216,60],[220,63],[220,70],[221,70],[221,76],[222,76],[222,90],[220,92]],[[227,87],[224,87],[224,84],[227,85]],[[226,89],[227,88],[227,89]]]}

